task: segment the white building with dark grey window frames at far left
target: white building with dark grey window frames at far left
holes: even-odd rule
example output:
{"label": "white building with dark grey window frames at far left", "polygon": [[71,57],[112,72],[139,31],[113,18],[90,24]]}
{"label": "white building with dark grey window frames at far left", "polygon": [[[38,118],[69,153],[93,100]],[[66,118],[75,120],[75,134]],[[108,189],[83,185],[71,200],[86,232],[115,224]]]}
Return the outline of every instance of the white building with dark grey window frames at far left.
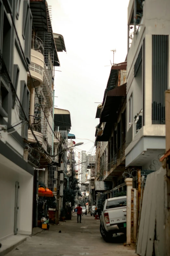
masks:
{"label": "white building with dark grey window frames at far left", "polygon": [[13,235],[32,234],[34,169],[25,155],[32,28],[29,1],[0,1],[0,17],[0,241],[3,245]]}

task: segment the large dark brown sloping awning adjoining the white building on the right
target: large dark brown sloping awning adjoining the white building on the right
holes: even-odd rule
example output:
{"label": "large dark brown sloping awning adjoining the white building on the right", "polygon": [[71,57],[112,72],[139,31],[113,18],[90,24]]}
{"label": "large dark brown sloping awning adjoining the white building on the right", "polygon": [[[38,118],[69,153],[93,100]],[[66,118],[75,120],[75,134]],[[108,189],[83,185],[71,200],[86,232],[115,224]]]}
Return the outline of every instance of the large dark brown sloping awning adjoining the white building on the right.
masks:
{"label": "large dark brown sloping awning adjoining the white building on the right", "polygon": [[100,115],[100,122],[113,122],[114,116],[117,116],[116,111],[120,106],[120,100],[123,96],[126,96],[126,83],[106,93]]}

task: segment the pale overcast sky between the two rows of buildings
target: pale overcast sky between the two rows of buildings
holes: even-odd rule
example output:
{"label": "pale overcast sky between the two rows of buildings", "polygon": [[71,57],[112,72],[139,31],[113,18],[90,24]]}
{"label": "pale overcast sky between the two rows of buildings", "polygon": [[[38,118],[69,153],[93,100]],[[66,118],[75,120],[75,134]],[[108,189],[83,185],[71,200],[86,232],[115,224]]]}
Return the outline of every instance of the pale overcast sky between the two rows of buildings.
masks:
{"label": "pale overcast sky between the two rows of buildings", "polygon": [[[95,140],[97,103],[102,102],[113,63],[127,54],[128,0],[48,0],[54,33],[64,36],[67,54],[58,53],[61,67],[55,67],[55,104],[71,114],[71,131],[79,150],[91,150]],[[105,67],[106,66],[106,67]],[[85,144],[86,143],[86,144]],[[93,150],[93,153],[95,149]]]}

